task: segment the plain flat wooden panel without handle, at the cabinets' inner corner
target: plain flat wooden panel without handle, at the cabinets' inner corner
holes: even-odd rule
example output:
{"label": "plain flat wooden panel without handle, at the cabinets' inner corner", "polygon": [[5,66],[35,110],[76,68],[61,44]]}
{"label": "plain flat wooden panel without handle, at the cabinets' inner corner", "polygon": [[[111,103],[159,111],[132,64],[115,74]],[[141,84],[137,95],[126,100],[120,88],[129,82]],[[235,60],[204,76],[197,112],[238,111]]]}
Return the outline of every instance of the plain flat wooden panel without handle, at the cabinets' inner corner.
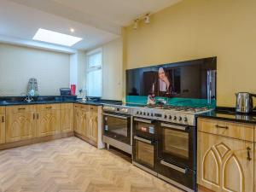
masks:
{"label": "plain flat wooden panel without handle, at the cabinets' inner corner", "polygon": [[61,104],[61,132],[73,131],[73,103]]}

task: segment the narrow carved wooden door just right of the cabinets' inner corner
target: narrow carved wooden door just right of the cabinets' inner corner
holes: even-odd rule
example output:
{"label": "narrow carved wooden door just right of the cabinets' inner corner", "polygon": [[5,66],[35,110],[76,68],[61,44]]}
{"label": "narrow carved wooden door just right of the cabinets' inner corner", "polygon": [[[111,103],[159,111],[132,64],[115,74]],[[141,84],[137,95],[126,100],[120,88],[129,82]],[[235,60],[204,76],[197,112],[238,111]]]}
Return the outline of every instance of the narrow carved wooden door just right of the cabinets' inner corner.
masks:
{"label": "narrow carved wooden door just right of the cabinets' inner corner", "polygon": [[86,112],[79,108],[74,109],[74,131],[85,136]]}

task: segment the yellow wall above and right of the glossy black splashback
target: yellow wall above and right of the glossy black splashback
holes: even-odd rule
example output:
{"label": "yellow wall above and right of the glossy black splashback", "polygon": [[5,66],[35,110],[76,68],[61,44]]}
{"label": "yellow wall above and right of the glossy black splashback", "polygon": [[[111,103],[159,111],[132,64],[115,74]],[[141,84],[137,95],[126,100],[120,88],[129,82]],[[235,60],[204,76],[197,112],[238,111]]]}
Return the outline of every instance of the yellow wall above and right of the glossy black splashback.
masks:
{"label": "yellow wall above and right of the glossy black splashback", "polygon": [[255,8],[255,0],[183,0],[125,28],[124,66],[217,56],[218,106],[233,107],[236,91],[256,92]]}

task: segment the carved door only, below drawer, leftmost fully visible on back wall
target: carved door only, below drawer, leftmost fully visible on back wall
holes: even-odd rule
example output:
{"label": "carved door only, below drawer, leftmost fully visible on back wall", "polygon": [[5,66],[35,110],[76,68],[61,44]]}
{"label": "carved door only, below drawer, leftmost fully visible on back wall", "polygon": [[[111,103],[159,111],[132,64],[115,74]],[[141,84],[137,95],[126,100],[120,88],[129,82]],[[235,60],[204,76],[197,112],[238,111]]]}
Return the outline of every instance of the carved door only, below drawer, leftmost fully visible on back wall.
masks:
{"label": "carved door only, below drawer, leftmost fully visible on back wall", "polygon": [[35,113],[9,113],[6,116],[6,143],[35,137]]}

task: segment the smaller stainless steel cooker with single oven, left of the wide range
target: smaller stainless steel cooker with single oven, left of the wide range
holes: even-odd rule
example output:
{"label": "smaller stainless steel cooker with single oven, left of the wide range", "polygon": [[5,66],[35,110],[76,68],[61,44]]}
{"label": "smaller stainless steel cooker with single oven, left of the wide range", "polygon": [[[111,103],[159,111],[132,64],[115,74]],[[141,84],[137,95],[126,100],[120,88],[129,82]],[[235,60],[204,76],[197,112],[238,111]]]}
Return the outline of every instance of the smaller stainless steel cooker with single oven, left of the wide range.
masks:
{"label": "smaller stainless steel cooker with single oven, left of the wide range", "polygon": [[131,108],[122,105],[103,106],[103,142],[131,154]]}

